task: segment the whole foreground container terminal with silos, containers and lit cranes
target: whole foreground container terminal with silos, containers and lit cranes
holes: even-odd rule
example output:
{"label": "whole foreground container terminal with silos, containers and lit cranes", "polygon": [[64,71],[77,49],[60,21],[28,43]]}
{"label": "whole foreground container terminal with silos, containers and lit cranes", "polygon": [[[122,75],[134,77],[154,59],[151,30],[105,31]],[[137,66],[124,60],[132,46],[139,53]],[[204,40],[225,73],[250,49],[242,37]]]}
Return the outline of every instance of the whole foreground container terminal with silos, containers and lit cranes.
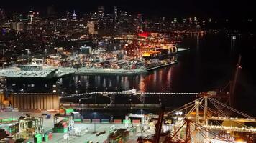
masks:
{"label": "whole foreground container terminal with silos, containers and lit cranes", "polygon": [[[233,80],[236,78],[237,74]],[[4,81],[1,79],[2,84]],[[1,90],[1,142],[253,143],[255,117],[234,109],[234,92],[226,92],[234,91],[235,83],[209,92],[91,89],[99,92],[70,90],[63,94],[58,87],[54,93]],[[173,108],[173,98],[191,102]],[[97,110],[127,113],[101,117]],[[138,110],[140,114],[132,113]],[[92,114],[83,117],[81,112]]]}

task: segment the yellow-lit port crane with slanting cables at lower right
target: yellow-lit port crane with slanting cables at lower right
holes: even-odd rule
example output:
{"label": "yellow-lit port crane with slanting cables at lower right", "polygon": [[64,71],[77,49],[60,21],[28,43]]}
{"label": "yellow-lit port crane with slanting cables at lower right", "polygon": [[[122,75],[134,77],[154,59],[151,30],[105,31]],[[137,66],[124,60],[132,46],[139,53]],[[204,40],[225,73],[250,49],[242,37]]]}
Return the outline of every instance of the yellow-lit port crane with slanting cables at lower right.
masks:
{"label": "yellow-lit port crane with slanting cables at lower right", "polygon": [[[232,113],[224,112],[227,110]],[[255,127],[248,127],[244,124],[255,124],[255,117],[250,117],[247,114],[239,112],[237,109],[229,107],[226,104],[219,102],[217,99],[214,99],[211,95],[200,97],[193,102],[185,104],[183,107],[168,112],[167,114],[171,115],[175,112],[186,113],[183,115],[180,122],[183,122],[184,119],[190,119],[197,124],[201,124],[206,129],[256,133]],[[211,124],[209,124],[209,122],[211,122]],[[224,122],[230,122],[232,125],[224,125]]]}

